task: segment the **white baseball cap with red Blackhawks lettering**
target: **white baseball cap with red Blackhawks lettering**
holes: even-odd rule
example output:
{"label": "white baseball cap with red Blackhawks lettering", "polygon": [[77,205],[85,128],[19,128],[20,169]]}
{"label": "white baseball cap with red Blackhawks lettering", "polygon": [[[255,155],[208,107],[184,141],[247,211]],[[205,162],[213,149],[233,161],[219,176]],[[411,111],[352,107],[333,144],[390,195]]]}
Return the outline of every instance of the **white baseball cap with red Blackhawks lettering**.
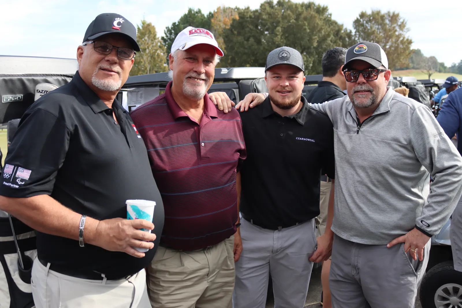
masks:
{"label": "white baseball cap with red Blackhawks lettering", "polygon": [[212,45],[217,54],[220,57],[223,56],[223,51],[218,47],[218,43],[215,40],[213,33],[206,29],[194,27],[188,27],[178,33],[175,38],[175,42],[172,44],[171,53],[174,53],[176,49],[186,50],[197,44]]}

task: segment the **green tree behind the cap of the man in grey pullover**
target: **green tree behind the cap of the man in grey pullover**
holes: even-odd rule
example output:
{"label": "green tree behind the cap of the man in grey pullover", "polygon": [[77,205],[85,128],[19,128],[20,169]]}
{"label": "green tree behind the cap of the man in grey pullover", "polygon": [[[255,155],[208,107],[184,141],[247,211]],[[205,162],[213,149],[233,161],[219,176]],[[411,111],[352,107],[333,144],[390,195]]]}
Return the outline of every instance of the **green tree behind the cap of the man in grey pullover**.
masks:
{"label": "green tree behind the cap of the man in grey pullover", "polygon": [[353,28],[358,41],[375,42],[383,48],[391,70],[408,65],[412,40],[406,36],[409,32],[407,22],[399,13],[372,10],[368,14],[363,11],[353,21]]}

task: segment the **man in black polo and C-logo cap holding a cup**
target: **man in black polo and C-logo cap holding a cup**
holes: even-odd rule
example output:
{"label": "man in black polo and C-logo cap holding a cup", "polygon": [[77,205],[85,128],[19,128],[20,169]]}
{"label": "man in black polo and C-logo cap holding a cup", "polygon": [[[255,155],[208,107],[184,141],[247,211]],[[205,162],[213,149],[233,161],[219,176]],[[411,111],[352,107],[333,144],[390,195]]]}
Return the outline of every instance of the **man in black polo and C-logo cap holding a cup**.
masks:
{"label": "man in black polo and C-logo cap holding a cup", "polygon": [[[136,51],[133,24],[98,15],[72,81],[26,111],[8,148],[0,209],[38,231],[37,308],[151,307],[144,268],[164,209],[146,146],[115,99]],[[155,201],[153,221],[128,220],[128,199]]]}

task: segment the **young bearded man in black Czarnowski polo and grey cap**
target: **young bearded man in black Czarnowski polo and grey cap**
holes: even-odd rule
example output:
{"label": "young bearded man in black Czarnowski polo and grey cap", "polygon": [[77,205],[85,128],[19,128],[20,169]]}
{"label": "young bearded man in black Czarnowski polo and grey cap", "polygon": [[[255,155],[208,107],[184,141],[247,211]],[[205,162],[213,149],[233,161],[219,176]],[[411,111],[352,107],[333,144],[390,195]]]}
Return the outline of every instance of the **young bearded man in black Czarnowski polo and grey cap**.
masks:
{"label": "young bearded man in black Czarnowski polo and grey cap", "polygon": [[233,305],[264,307],[271,273],[274,307],[303,307],[313,261],[327,260],[332,247],[333,198],[328,229],[317,239],[314,218],[321,169],[334,178],[334,131],[302,96],[304,64],[297,50],[274,49],[265,72],[269,96],[253,112],[241,112],[247,159],[237,182],[243,251]]}

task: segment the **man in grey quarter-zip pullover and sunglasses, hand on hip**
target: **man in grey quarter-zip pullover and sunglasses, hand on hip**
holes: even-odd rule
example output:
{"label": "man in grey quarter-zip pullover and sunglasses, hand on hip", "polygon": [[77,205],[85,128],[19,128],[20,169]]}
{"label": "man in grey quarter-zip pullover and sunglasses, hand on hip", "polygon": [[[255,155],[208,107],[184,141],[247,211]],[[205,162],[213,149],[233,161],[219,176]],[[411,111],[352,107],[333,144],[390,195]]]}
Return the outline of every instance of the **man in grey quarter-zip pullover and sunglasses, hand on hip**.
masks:
{"label": "man in grey quarter-zip pullover and sunglasses, hand on hip", "polygon": [[462,157],[428,107],[387,87],[378,44],[350,47],[343,70],[348,96],[311,105],[334,124],[332,305],[414,307],[430,237],[462,194]]}

